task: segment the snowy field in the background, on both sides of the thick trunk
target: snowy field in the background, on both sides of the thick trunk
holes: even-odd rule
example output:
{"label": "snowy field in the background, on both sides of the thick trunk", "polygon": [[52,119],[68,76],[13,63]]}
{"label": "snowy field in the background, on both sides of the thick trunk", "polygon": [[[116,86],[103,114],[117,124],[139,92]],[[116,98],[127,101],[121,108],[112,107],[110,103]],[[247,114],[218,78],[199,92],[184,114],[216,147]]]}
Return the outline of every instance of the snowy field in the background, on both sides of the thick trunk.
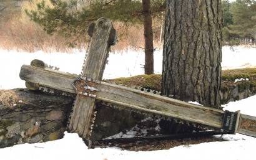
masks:
{"label": "snowy field in the background, on both sides of the thick trunk", "polygon": [[[247,47],[223,47],[222,68],[256,67],[256,49]],[[60,67],[60,70],[79,74],[85,53],[74,50],[71,54],[64,53],[19,53],[0,49],[0,89],[24,87],[19,78],[21,65],[29,65],[31,60],[40,59],[48,65]],[[122,54],[110,54],[109,63],[104,71],[105,79],[117,77],[130,77],[144,73],[144,53],[142,51],[128,51]],[[162,73],[162,51],[154,54],[155,73]]]}

